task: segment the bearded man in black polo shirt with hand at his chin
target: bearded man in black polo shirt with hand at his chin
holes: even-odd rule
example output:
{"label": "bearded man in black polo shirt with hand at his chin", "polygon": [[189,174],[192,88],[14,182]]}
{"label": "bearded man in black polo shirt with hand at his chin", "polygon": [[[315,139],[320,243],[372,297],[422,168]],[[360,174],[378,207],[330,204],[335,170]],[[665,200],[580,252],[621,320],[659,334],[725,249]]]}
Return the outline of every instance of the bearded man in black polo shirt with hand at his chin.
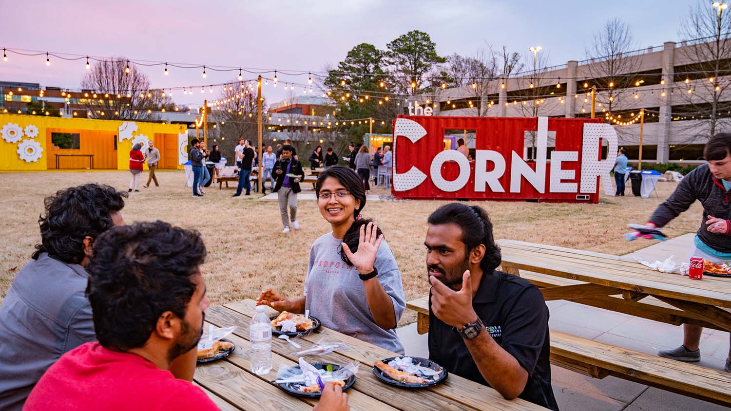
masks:
{"label": "bearded man in black polo shirt with hand at his chin", "polygon": [[428,219],[429,359],[447,371],[558,410],[550,385],[548,307],[527,280],[496,271],[488,213],[453,203]]}

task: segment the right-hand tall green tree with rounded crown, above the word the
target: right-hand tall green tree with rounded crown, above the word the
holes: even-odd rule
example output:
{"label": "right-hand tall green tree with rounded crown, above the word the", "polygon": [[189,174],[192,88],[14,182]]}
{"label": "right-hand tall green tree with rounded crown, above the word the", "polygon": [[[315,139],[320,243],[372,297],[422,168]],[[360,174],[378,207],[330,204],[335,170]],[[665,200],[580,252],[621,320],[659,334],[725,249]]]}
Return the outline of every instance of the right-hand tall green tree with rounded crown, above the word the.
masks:
{"label": "right-hand tall green tree with rounded crown, above the word the", "polygon": [[426,75],[436,64],[446,61],[436,54],[436,43],[423,31],[409,31],[386,47],[388,61],[398,80],[396,87],[406,93],[420,90],[422,83],[428,81]]}

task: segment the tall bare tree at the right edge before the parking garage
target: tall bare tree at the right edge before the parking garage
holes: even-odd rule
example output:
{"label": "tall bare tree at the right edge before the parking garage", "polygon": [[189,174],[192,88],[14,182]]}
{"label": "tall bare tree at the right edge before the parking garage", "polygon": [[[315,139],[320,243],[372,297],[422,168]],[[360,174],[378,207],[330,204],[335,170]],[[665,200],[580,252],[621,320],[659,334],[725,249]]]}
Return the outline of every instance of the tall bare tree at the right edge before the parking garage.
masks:
{"label": "tall bare tree at the right edge before the parking garage", "polygon": [[[693,80],[688,87],[692,93],[676,93],[686,105],[679,112],[696,121],[692,122],[694,139],[708,139],[719,128],[730,125],[727,112],[731,102],[727,101],[727,90],[731,83],[725,76],[731,70],[731,15],[721,7],[708,7],[698,2],[690,7],[687,20],[681,26],[680,35],[686,39],[700,39],[694,45],[681,47],[681,53],[694,64],[686,66],[688,76]],[[700,122],[700,124],[699,124]]]}

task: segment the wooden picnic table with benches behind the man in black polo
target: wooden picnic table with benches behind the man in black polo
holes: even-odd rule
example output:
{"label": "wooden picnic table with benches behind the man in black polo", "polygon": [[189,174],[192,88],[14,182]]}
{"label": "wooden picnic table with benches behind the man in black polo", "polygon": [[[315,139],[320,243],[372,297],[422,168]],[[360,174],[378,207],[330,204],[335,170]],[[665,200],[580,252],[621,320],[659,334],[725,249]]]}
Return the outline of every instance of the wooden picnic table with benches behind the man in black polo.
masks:
{"label": "wooden picnic table with benches behind the man in black polo", "polygon": [[[731,278],[691,280],[619,256],[498,240],[501,269],[531,281],[546,301],[563,299],[679,326],[731,331]],[[406,307],[417,312],[417,332],[429,329],[428,296]],[[731,375],[550,330],[550,361],[590,377],[609,375],[731,405]]]}

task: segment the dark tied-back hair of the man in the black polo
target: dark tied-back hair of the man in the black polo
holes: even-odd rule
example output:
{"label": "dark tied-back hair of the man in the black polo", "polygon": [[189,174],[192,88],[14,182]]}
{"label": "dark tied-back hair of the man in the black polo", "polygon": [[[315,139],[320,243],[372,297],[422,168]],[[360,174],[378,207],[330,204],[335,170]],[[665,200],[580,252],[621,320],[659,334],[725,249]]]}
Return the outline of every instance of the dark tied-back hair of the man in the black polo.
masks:
{"label": "dark tied-back hair of the man in the black polo", "polygon": [[462,229],[462,242],[466,254],[480,244],[485,245],[485,256],[480,261],[482,272],[491,272],[500,265],[500,247],[493,238],[493,223],[488,212],[480,206],[469,206],[461,203],[444,204],[429,216],[429,224],[453,223]]}

